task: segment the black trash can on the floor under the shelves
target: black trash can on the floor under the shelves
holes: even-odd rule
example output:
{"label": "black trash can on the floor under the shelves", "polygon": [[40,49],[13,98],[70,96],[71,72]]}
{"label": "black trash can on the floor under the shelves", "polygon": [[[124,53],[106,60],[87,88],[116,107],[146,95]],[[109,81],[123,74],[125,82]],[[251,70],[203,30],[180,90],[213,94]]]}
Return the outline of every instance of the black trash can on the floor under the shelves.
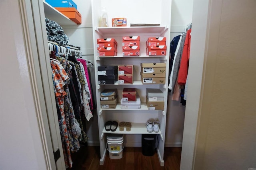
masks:
{"label": "black trash can on the floor under the shelves", "polygon": [[144,156],[153,156],[156,150],[156,135],[142,135],[142,154]]}

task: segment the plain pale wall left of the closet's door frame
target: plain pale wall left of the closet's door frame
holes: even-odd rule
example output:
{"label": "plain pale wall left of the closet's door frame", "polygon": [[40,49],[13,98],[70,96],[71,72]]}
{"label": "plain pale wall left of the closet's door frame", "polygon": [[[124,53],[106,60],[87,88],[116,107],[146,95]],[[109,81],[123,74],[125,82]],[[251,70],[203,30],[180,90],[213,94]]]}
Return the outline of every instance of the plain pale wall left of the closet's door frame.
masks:
{"label": "plain pale wall left of the closet's door frame", "polygon": [[18,1],[0,3],[0,169],[45,170]]}

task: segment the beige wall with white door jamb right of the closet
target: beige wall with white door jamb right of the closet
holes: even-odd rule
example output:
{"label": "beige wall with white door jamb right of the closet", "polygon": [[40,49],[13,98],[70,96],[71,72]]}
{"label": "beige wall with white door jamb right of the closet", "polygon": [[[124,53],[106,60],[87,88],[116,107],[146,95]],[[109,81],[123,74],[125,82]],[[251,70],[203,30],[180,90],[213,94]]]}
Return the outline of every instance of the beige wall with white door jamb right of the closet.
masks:
{"label": "beige wall with white door jamb right of the closet", "polygon": [[181,169],[253,170],[256,2],[212,0],[206,18],[208,2],[194,0],[191,43],[201,42],[191,45]]}

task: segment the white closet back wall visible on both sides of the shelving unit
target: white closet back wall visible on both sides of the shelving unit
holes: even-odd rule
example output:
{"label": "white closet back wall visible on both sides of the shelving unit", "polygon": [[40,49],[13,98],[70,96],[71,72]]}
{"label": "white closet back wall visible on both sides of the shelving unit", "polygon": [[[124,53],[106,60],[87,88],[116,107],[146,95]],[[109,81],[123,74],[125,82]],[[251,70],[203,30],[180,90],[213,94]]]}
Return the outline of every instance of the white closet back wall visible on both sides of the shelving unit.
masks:
{"label": "white closet back wall visible on both sides of the shelving unit", "polygon": [[[92,38],[92,14],[90,0],[74,0],[78,5],[78,11],[82,15],[81,25],[63,26],[65,33],[70,37],[70,44],[81,47],[83,58],[93,61],[93,38]],[[193,0],[172,0],[171,37],[184,32],[184,27],[192,21]],[[90,68],[91,77],[94,78],[94,67]],[[95,88],[94,79],[92,79]],[[168,100],[168,115],[166,124],[166,147],[181,147],[185,106],[180,102]],[[97,113],[87,123],[87,135],[89,145],[98,144],[98,121]]]}

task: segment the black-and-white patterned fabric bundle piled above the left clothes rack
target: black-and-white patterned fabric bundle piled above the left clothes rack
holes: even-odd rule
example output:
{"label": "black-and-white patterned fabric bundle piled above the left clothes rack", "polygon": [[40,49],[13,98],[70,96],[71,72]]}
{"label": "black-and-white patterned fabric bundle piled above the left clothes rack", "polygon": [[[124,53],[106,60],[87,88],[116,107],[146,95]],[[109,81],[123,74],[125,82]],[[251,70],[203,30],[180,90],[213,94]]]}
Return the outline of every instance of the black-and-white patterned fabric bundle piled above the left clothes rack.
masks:
{"label": "black-and-white patterned fabric bundle piled above the left clothes rack", "polygon": [[60,45],[69,44],[68,36],[57,22],[45,18],[45,23],[48,41],[53,41]]}

